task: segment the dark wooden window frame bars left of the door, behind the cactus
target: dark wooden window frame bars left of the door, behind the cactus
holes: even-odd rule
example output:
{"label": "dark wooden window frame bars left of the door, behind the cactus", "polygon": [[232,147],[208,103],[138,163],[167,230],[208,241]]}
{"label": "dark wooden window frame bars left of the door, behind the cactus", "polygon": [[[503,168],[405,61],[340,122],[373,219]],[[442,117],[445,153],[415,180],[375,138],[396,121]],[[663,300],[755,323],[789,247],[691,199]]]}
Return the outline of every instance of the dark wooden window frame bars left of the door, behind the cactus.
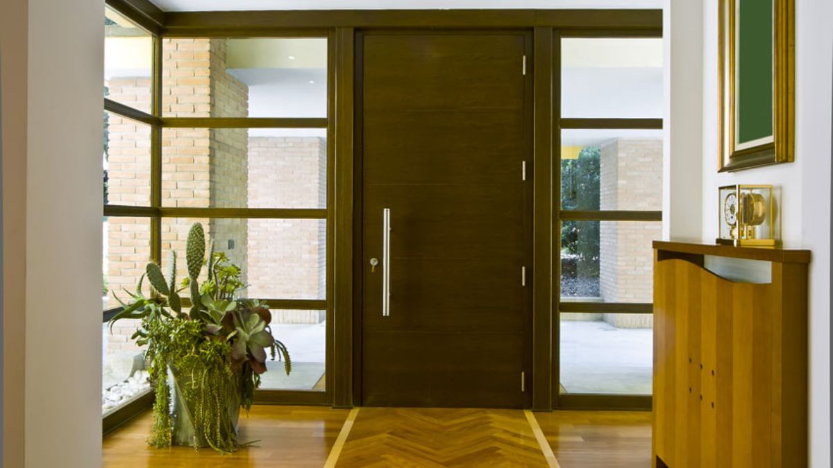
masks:
{"label": "dark wooden window frame bars left of the door, behind the cactus", "polygon": [[[147,217],[151,220],[151,261],[162,261],[162,218],[202,217],[210,219],[317,219],[327,224],[326,242],[326,294],[323,299],[287,299],[281,297],[262,297],[272,310],[311,310],[326,311],[327,331],[325,334],[325,389],[321,390],[281,390],[264,389],[255,393],[256,403],[267,404],[301,404],[331,405],[333,401],[333,269],[335,250],[334,222],[334,148],[335,148],[335,41],[334,33],[328,29],[315,28],[304,32],[270,31],[262,34],[246,34],[243,37],[296,38],[316,37],[327,40],[327,117],[162,117],[162,47],[165,39],[199,37],[231,38],[240,37],[234,33],[216,31],[195,35],[167,36],[162,27],[154,27],[156,22],[137,14],[126,6],[122,0],[107,0],[110,7],[122,16],[134,22],[138,27],[152,36],[152,104],[151,112],[142,112],[120,102],[104,97],[104,110],[121,117],[151,126],[151,202],[150,207],[132,207],[125,205],[103,206],[104,217]],[[164,128],[324,128],[327,130],[327,204],[324,208],[191,208],[162,206],[162,130]],[[190,305],[190,300],[183,299],[183,305]],[[121,307],[102,312],[102,321],[109,321]],[[112,431],[123,422],[128,421],[144,411],[152,401],[152,391],[134,397],[121,407],[110,411],[103,417],[103,430]]]}

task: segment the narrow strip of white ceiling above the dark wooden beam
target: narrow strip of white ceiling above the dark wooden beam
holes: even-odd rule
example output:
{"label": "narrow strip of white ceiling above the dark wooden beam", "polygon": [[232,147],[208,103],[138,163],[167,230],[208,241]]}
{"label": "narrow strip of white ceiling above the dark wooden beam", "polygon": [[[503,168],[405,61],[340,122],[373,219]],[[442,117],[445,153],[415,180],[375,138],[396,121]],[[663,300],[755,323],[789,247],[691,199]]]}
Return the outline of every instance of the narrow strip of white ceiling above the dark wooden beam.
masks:
{"label": "narrow strip of white ceiling above the dark wooden beam", "polygon": [[151,0],[166,12],[661,8],[664,0]]}

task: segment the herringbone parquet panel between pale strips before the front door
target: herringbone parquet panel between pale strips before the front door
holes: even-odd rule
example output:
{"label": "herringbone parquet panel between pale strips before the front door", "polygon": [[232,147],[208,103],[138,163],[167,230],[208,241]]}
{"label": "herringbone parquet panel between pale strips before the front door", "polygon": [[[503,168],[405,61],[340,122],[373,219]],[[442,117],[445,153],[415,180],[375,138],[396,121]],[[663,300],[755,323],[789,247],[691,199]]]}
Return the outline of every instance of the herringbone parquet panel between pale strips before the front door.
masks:
{"label": "herringbone parquet panel between pale strips before the front door", "polygon": [[546,467],[523,411],[362,408],[339,468]]}

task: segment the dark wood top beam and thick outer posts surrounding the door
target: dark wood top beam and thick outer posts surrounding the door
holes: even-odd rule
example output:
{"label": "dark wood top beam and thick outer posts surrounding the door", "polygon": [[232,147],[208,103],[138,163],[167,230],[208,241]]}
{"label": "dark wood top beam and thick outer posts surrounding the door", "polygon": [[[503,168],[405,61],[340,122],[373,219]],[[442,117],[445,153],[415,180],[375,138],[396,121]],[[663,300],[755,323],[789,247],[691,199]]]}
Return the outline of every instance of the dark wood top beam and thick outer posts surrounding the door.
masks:
{"label": "dark wood top beam and thick outer posts surrounding the door", "polygon": [[[527,73],[533,75],[533,266],[532,266],[532,376],[531,408],[550,411],[559,407],[617,408],[638,406],[650,408],[650,397],[581,396],[570,401],[558,394],[559,342],[557,319],[559,297],[556,281],[558,264],[557,237],[553,236],[560,221],[552,197],[560,188],[558,167],[553,164],[553,148],[559,147],[558,115],[559,83],[557,74],[556,37],[585,35],[596,37],[661,37],[661,9],[505,9],[505,10],[330,10],[330,11],[256,11],[256,12],[162,12],[148,0],[106,0],[132,21],[146,27],[159,37],[328,37],[328,197],[332,212],[327,218],[328,241],[327,287],[327,386],[326,395],[313,392],[258,391],[263,402],[274,404],[322,404],[352,407],[360,399],[353,356],[356,327],[354,311],[361,307],[360,290],[355,288],[354,246],[354,122],[355,64],[361,51],[356,50],[357,29],[435,27],[455,29],[516,29],[533,34],[533,52],[527,56]],[[530,60],[531,58],[531,60]],[[157,54],[155,62],[161,60]],[[329,167],[332,167],[330,169]],[[361,170],[361,167],[358,167]],[[361,172],[359,172],[361,173]],[[527,172],[527,176],[529,173]],[[361,219],[361,218],[359,218]],[[361,231],[359,231],[361,232]],[[358,237],[360,238],[360,237]],[[361,284],[361,283],[359,283]],[[354,294],[357,293],[357,294]],[[357,297],[358,296],[358,297]],[[554,326],[555,325],[555,326]],[[361,328],[359,328],[361,332]],[[359,336],[361,339],[361,336]],[[332,382],[331,382],[332,376]],[[556,382],[553,385],[553,382]],[[267,397],[267,398],[265,398]],[[112,419],[122,421],[120,412]]]}

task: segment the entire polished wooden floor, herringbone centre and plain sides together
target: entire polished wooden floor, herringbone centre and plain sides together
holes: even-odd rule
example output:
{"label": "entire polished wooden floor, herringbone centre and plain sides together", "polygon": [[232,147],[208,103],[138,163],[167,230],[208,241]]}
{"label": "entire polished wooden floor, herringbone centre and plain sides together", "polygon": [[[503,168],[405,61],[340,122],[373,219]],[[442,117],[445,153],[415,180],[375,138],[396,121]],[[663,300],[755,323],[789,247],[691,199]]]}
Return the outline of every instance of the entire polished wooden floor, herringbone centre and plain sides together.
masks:
{"label": "entire polished wooden floor, herringbone centre and plain sides together", "polygon": [[[324,466],[347,410],[253,406],[241,440],[256,446],[228,456],[188,447],[157,450],[145,439],[150,412],[105,437],[104,466]],[[361,408],[330,460],[339,468],[396,466],[651,466],[651,414],[619,411],[534,413],[556,462],[547,461],[524,411]],[[346,437],[346,438],[345,438]],[[543,438],[542,437],[542,438]],[[556,465],[557,463],[557,465]]]}

